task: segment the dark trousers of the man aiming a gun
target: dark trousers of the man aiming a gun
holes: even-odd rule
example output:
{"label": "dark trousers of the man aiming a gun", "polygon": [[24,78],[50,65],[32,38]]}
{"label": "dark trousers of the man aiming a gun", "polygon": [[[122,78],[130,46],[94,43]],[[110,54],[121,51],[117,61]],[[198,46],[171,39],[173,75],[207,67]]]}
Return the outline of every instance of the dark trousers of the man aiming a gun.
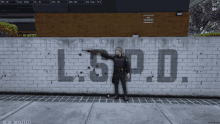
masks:
{"label": "dark trousers of the man aiming a gun", "polygon": [[118,95],[119,79],[121,80],[122,88],[124,91],[124,96],[127,96],[126,81],[125,81],[125,74],[124,73],[113,74],[113,80],[114,80],[114,84],[115,84],[115,95]]}

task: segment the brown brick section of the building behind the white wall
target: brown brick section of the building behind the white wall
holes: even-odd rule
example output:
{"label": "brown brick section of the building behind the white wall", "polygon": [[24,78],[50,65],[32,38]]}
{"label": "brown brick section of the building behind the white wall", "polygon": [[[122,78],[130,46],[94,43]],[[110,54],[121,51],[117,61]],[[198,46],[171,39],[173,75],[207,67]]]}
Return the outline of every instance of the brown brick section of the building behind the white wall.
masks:
{"label": "brown brick section of the building behind the white wall", "polygon": [[[154,23],[143,23],[143,15]],[[35,13],[37,37],[188,36],[189,12]]]}

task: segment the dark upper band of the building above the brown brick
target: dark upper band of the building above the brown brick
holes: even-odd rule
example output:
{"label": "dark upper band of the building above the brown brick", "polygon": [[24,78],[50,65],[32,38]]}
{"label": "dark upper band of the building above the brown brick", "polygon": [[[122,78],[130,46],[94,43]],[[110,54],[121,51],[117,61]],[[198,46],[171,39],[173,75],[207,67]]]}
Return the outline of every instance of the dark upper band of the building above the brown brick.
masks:
{"label": "dark upper band of the building above the brown brick", "polygon": [[1,0],[1,13],[188,12],[189,0]]}

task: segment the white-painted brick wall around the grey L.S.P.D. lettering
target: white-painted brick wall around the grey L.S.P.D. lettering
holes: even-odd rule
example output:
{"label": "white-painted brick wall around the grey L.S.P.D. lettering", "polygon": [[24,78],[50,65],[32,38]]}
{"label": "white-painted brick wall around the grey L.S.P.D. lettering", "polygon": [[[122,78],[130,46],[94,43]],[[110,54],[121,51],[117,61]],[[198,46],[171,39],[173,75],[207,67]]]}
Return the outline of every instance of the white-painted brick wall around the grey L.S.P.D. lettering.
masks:
{"label": "white-painted brick wall around the grey L.S.P.D. lettering", "polygon": [[[140,49],[144,53],[143,71],[131,74],[131,81],[127,82],[128,94],[220,96],[220,39],[217,37],[1,38],[0,92],[114,93],[113,62],[98,56],[97,63],[108,66],[108,79],[93,82],[89,76],[94,69],[90,65],[90,53],[81,50],[82,47],[105,49],[114,54],[117,46],[122,47],[124,53],[127,49]],[[58,81],[58,49],[64,50],[64,76],[72,76],[73,82]],[[177,78],[173,82],[157,81],[158,51],[162,49],[178,53]],[[169,77],[171,63],[167,62],[171,62],[171,55],[165,55],[164,62],[164,76]],[[137,55],[132,56],[131,67],[136,68],[138,64]],[[102,75],[101,68],[95,70]],[[84,76],[84,82],[79,82],[78,75]],[[146,82],[149,76],[153,76],[152,82]],[[182,77],[187,77],[188,81],[182,82]],[[121,84],[119,93],[123,94]]]}

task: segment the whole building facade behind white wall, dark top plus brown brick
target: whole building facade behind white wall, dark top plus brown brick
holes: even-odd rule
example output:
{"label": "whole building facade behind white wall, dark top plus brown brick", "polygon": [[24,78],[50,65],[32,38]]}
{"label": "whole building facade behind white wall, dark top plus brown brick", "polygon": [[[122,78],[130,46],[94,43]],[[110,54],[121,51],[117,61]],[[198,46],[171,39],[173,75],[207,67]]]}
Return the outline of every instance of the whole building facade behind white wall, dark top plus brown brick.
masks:
{"label": "whole building facade behind white wall, dark top plus brown brick", "polygon": [[189,0],[1,0],[0,21],[17,19],[9,23],[37,36],[187,36],[188,9]]}

